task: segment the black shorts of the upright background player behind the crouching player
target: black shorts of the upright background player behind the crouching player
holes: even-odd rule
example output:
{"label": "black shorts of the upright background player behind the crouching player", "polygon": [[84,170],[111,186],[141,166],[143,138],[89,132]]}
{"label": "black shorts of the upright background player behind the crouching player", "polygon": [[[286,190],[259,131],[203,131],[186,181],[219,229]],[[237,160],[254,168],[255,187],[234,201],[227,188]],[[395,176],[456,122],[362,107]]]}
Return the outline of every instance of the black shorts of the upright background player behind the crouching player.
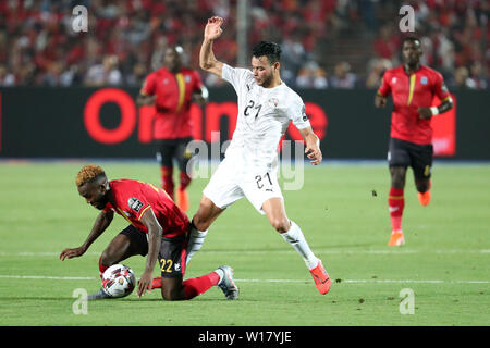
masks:
{"label": "black shorts of the upright background player behind the crouching player", "polygon": [[187,145],[193,140],[192,137],[179,139],[156,139],[157,159],[162,166],[172,166],[173,160],[176,160],[179,170],[185,172],[187,163],[193,157],[193,152],[187,149]]}

